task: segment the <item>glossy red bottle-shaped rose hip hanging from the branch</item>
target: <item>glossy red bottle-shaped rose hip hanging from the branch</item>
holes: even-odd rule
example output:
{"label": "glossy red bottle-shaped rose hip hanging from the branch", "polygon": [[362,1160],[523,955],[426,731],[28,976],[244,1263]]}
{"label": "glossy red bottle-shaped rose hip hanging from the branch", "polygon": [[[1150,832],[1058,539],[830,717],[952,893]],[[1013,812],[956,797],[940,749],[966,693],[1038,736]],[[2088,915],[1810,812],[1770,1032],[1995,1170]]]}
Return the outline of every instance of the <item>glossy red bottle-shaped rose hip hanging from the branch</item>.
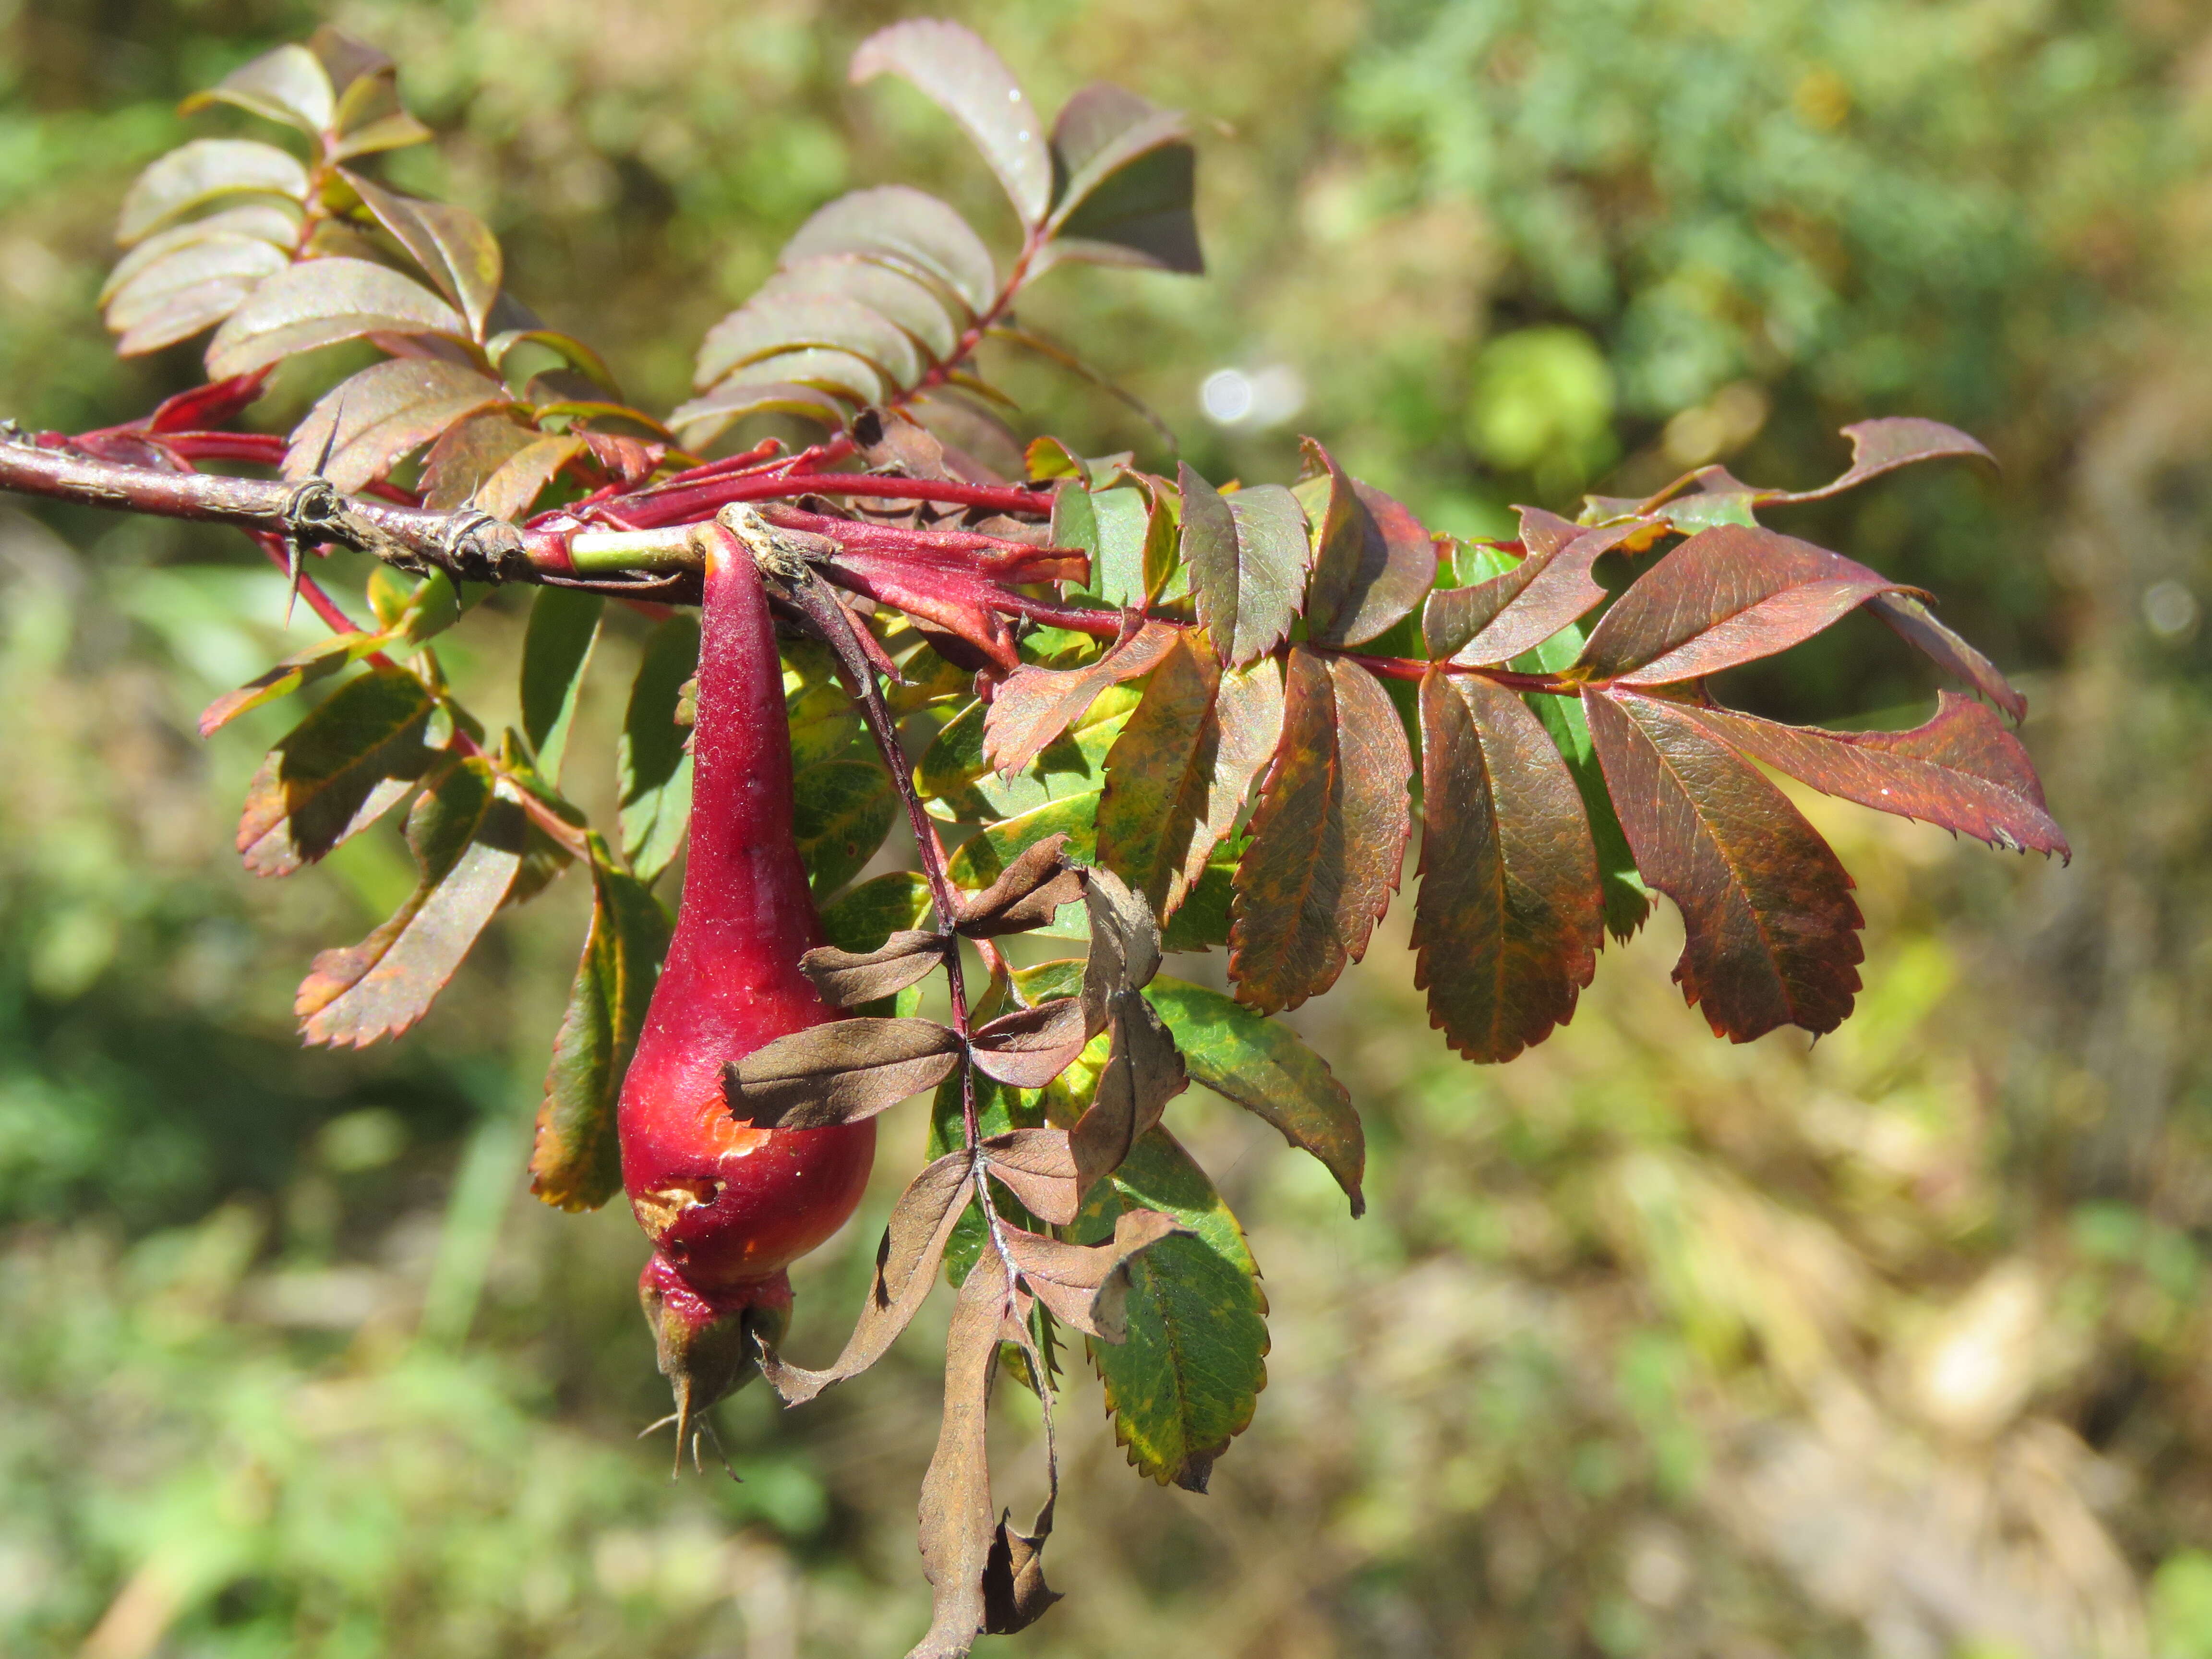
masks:
{"label": "glossy red bottle-shaped rose hip hanging from the branch", "polygon": [[876,1157],[874,1121],[765,1130],[737,1124],[723,1102],[728,1062],[836,1018],[799,971],[814,945],[768,595],[745,546],[717,529],[684,898],[617,1126],[622,1186],[657,1259],[719,1307],[772,1301],[783,1267],[852,1214]]}

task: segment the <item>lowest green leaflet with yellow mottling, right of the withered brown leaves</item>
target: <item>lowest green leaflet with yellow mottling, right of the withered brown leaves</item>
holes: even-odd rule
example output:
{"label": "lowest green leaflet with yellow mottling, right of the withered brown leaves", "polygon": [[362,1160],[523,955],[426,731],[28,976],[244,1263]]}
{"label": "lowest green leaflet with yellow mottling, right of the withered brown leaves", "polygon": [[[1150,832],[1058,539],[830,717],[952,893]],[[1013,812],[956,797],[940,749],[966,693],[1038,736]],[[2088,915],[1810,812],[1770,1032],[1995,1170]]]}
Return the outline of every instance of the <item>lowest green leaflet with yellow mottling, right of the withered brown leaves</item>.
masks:
{"label": "lowest green leaflet with yellow mottling, right of the withered brown leaves", "polygon": [[1206,1491],[1267,1385],[1267,1296],[1237,1217],[1164,1128],[1091,1190],[1077,1241],[1108,1241],[1126,1210],[1159,1210],[1188,1232],[1130,1265],[1128,1340],[1091,1343],[1091,1363],[1130,1464],[1161,1484]]}

